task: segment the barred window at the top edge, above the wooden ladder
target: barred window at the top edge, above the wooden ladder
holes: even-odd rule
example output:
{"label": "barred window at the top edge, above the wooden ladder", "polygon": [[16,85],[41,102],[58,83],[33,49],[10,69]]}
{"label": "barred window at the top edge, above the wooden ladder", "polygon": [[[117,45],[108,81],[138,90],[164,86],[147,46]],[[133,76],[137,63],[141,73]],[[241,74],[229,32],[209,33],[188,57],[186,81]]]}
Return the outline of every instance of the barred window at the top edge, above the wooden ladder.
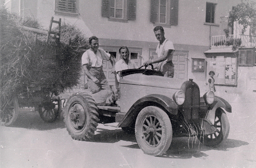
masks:
{"label": "barred window at the top edge, above the wooden ladder", "polygon": [[64,16],[78,16],[77,0],[55,0],[55,14]]}

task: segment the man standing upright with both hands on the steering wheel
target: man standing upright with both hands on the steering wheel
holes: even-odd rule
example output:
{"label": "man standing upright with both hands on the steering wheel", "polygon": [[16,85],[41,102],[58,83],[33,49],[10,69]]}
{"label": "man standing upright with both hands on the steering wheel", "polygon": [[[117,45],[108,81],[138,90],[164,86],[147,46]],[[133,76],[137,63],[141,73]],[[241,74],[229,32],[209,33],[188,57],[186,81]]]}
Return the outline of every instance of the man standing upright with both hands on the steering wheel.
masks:
{"label": "man standing upright with both hands on the steering wheel", "polygon": [[174,65],[172,62],[173,53],[175,51],[173,42],[165,39],[164,28],[162,26],[156,26],[154,28],[156,39],[159,40],[156,53],[158,58],[155,60],[146,61],[143,65],[149,66],[151,63],[158,63],[158,70],[163,73],[165,77],[173,78],[174,76]]}

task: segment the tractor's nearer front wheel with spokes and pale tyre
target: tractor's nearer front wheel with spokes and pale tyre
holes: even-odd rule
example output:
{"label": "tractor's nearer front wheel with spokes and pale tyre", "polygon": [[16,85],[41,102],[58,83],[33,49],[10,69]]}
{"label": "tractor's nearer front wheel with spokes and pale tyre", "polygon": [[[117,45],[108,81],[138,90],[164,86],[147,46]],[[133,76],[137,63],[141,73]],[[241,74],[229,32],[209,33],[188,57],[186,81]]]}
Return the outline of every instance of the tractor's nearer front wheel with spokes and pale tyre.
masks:
{"label": "tractor's nearer front wheel with spokes and pale tyre", "polygon": [[172,124],[163,110],[148,106],[138,114],[135,135],[138,146],[147,155],[163,155],[172,143]]}

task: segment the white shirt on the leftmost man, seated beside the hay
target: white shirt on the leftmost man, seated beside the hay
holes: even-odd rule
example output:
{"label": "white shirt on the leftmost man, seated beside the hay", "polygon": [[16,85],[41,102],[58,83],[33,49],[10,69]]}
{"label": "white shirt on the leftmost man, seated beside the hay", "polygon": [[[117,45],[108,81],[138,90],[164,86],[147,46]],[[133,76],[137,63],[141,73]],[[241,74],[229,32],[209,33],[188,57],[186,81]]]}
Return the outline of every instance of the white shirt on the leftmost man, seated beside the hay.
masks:
{"label": "white shirt on the leftmost man, seated beside the hay", "polygon": [[101,67],[103,60],[110,60],[110,53],[106,53],[103,49],[98,49],[96,54],[88,49],[83,53],[82,65],[89,65],[91,67]]}

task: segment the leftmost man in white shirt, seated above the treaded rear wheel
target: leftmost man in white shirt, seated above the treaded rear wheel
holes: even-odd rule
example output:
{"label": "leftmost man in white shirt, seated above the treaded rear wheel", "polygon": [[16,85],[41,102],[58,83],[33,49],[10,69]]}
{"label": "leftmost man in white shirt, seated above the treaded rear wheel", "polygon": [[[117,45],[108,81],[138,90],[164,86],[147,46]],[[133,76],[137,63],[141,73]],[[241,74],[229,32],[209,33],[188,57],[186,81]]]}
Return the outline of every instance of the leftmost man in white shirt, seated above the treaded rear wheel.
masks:
{"label": "leftmost man in white shirt, seated above the treaded rear wheel", "polygon": [[[115,70],[114,56],[106,53],[103,49],[99,49],[98,38],[93,36],[89,38],[90,48],[83,53],[82,66],[83,70],[88,77],[87,84],[89,91],[95,97],[96,103],[100,102],[104,105],[106,99],[110,104],[113,97],[113,90],[110,88],[107,82],[106,76],[102,69],[103,60],[110,61],[113,66],[113,72]],[[102,92],[100,92],[103,90]],[[106,98],[107,97],[107,98]],[[109,104],[109,102],[107,102]]]}

